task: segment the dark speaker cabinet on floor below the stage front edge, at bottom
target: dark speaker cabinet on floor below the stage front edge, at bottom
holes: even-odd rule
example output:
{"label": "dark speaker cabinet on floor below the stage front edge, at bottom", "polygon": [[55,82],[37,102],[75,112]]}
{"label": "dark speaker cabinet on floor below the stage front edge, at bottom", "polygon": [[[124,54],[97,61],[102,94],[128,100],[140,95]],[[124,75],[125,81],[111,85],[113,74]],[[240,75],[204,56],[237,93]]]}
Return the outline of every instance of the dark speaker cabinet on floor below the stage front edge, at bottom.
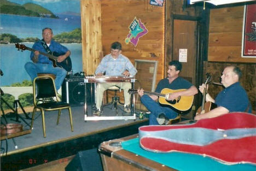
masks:
{"label": "dark speaker cabinet on floor below the stage front edge, at bottom", "polygon": [[97,149],[79,151],[65,168],[66,171],[102,171],[100,154]]}

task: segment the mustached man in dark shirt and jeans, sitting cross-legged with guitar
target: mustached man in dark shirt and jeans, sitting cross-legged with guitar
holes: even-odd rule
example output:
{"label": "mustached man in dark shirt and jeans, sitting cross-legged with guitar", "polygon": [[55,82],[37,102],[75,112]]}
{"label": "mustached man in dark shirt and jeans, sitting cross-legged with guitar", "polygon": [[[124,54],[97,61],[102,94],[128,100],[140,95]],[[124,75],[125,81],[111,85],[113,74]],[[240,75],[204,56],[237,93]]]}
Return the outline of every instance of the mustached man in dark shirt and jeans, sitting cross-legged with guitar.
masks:
{"label": "mustached man in dark shirt and jeans, sitting cross-legged with guitar", "polygon": [[[160,93],[163,89],[168,88],[172,90],[183,89],[181,91],[174,91],[173,93],[166,94],[167,101],[177,101],[177,99],[182,96],[194,96],[197,94],[197,88],[192,85],[189,81],[179,77],[181,72],[182,64],[179,61],[172,61],[168,64],[168,77],[159,81],[155,92]],[[149,125],[167,125],[169,119],[175,118],[178,114],[177,111],[167,107],[166,105],[161,105],[155,102],[158,96],[155,95],[144,95],[144,90],[138,90],[139,96],[141,96],[141,102],[150,111],[149,115]],[[191,107],[191,105],[190,105]]]}

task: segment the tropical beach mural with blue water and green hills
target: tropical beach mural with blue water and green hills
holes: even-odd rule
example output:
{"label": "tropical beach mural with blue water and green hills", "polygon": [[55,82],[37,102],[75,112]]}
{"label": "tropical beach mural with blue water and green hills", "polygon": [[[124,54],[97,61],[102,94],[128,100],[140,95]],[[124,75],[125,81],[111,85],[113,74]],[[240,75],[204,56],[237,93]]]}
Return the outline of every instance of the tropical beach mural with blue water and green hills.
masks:
{"label": "tropical beach mural with blue water and green hills", "polygon": [[31,86],[24,68],[31,51],[18,50],[15,43],[32,48],[36,40],[42,39],[45,27],[52,28],[54,39],[71,50],[73,73],[83,70],[80,0],[0,0],[0,13],[2,90]]}

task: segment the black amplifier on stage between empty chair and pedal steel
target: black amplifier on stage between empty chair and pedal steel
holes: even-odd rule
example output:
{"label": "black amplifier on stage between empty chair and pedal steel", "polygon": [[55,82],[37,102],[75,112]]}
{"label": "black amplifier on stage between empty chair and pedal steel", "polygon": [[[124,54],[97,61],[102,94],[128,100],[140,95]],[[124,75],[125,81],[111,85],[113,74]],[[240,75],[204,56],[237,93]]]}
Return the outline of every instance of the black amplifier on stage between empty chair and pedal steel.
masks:
{"label": "black amplifier on stage between empty chair and pedal steel", "polygon": [[69,103],[71,106],[84,105],[86,85],[86,103],[90,105],[95,103],[94,84],[85,84],[84,78],[66,78],[63,81],[62,101]]}

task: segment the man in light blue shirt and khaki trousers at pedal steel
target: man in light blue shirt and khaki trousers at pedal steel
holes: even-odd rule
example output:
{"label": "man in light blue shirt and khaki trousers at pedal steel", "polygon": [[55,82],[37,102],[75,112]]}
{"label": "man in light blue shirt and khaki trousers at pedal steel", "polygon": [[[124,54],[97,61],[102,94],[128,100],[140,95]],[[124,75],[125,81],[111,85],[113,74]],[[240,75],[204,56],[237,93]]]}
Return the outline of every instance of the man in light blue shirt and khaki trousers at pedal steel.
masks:
{"label": "man in light blue shirt and khaki trousers at pedal steel", "polygon": [[[96,69],[96,76],[101,76],[105,73],[108,76],[135,76],[137,70],[131,63],[131,61],[121,54],[122,46],[119,42],[112,43],[110,47],[110,54],[104,56]],[[113,83],[99,83],[97,84],[96,91],[96,108],[94,115],[100,116],[101,104],[103,99],[103,93],[111,86],[118,86],[124,90],[124,111],[125,113],[131,113],[130,110],[130,82],[113,82]]]}

